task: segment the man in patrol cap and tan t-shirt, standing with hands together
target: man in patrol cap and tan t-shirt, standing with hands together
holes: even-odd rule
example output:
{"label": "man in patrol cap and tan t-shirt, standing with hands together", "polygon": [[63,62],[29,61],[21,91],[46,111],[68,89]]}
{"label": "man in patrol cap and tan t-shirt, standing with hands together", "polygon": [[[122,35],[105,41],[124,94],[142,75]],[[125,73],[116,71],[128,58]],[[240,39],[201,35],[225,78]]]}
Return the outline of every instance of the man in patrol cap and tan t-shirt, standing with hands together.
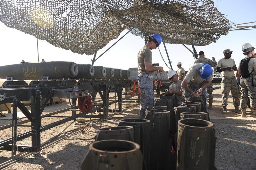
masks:
{"label": "man in patrol cap and tan t-shirt, standing with hands together", "polygon": [[238,89],[236,83],[236,76],[234,74],[234,70],[237,70],[235,61],[230,58],[233,51],[230,49],[225,49],[223,51],[224,58],[218,61],[216,66],[216,72],[221,72],[222,74],[222,81],[221,81],[221,93],[222,93],[222,107],[223,107],[223,114],[227,114],[227,99],[229,92],[231,91],[231,95],[233,98],[233,104],[235,106],[236,113],[242,113],[239,110],[240,104],[240,90]]}

